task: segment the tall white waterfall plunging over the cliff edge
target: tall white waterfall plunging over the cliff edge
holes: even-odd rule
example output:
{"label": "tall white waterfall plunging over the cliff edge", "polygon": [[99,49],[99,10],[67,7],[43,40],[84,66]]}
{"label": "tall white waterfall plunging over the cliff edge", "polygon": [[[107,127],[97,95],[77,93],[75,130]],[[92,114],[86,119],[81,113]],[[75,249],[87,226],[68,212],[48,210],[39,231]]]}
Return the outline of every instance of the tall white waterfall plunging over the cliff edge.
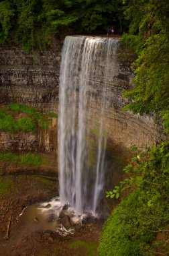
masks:
{"label": "tall white waterfall plunging over the cliff edge", "polygon": [[[107,143],[103,119],[110,93],[105,85],[114,77],[118,44],[116,39],[86,36],[66,36],[64,40],[58,121],[60,201],[69,203],[77,214],[96,214],[103,195]],[[88,105],[93,101],[93,91],[99,91],[101,114],[96,164],[91,170]]]}

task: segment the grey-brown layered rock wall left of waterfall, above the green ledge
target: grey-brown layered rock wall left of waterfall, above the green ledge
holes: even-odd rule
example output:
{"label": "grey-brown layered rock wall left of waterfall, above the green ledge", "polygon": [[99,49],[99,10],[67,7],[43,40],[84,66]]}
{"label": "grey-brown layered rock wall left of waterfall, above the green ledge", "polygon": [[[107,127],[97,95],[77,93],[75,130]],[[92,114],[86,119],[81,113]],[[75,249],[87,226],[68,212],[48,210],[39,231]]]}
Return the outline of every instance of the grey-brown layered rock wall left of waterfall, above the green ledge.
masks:
{"label": "grey-brown layered rock wall left of waterfall, above the green ledge", "polygon": [[0,49],[0,104],[20,102],[45,112],[56,111],[61,46],[27,54],[19,47]]}

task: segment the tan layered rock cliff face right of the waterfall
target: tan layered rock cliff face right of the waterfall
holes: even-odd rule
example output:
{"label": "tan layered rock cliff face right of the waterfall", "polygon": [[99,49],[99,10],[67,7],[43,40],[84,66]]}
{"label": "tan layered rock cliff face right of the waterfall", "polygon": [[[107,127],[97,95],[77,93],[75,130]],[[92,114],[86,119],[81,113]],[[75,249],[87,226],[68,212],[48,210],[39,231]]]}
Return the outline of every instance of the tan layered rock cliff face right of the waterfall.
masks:
{"label": "tan layered rock cliff face right of the waterfall", "polygon": [[[162,135],[162,125],[155,123],[154,117],[133,115],[129,111],[121,110],[121,107],[128,102],[122,97],[122,92],[123,90],[131,90],[129,82],[133,77],[130,69],[132,58],[131,53],[126,48],[119,46],[115,61],[113,61],[115,63],[113,67],[114,78],[109,79],[108,77],[107,84],[104,84],[107,88],[107,108],[103,123],[107,125],[107,133],[113,143],[127,148],[133,145],[145,148],[145,146],[160,143],[164,139],[164,135]],[[96,124],[99,124],[101,113],[100,94],[104,75],[103,72],[98,72],[95,75],[95,88],[93,90],[89,88],[89,94],[92,96],[89,106],[91,108],[91,120],[95,120]],[[89,120],[89,125],[90,123],[92,122]]]}

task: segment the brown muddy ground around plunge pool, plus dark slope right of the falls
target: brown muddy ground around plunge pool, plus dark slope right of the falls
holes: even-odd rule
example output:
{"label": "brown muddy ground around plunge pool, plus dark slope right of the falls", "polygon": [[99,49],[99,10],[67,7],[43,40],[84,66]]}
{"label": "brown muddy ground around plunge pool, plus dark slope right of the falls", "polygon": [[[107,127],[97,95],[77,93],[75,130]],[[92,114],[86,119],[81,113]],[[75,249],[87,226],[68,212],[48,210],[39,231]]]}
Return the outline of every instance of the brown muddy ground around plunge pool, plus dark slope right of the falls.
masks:
{"label": "brown muddy ground around plunge pool, plus dark slope right of the falls", "polygon": [[[112,145],[108,146],[111,161],[110,176],[106,182],[109,190],[122,179],[121,170],[131,158],[131,152],[113,150]],[[18,216],[25,207],[48,202],[58,196],[56,162],[53,159],[47,162],[50,163],[48,168],[40,166],[35,170],[27,167],[21,170],[21,166],[13,166],[11,163],[8,166],[5,164],[5,169],[0,169],[0,256],[96,256],[104,220],[85,220],[74,234],[68,236],[60,236],[52,230],[36,230],[13,238],[12,230],[17,226]],[[0,166],[4,164],[0,163]],[[118,200],[114,203],[111,200],[103,201],[108,210],[112,210],[118,203]],[[10,216],[11,233],[9,240],[4,241]]]}

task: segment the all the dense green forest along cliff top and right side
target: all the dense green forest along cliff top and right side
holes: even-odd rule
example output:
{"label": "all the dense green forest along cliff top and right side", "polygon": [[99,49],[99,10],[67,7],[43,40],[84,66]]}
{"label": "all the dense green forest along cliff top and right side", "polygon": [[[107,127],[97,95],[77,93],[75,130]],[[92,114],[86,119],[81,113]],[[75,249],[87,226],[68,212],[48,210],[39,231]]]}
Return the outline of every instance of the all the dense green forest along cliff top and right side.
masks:
{"label": "all the dense green forest along cliff top and right side", "polygon": [[169,1],[0,3],[0,44],[12,40],[25,51],[50,46],[55,36],[106,34],[108,26],[123,32],[121,43],[137,56],[132,65],[133,90],[123,93],[130,103],[123,110],[154,115],[162,121],[166,141],[147,152],[135,149],[135,157],[125,167],[127,178],[107,193],[121,202],[104,225],[99,255],[168,255]]}

